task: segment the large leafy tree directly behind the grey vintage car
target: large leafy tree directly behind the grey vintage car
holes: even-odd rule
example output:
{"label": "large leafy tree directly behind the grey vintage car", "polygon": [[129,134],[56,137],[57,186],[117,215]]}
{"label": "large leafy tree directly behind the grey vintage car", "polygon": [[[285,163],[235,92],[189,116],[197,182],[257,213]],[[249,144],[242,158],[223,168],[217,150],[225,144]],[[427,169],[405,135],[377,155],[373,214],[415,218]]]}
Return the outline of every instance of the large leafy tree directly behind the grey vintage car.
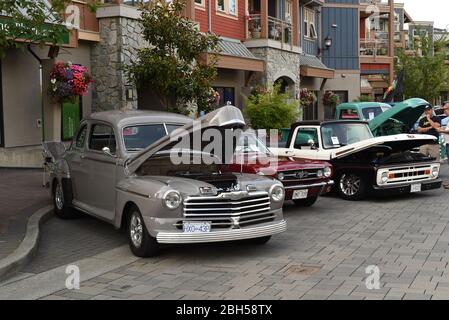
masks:
{"label": "large leafy tree directly behind the grey vintage car", "polygon": [[215,57],[219,40],[182,17],[185,5],[185,0],[155,0],[140,6],[148,46],[126,71],[137,88],[152,88],[167,110],[188,113],[193,103],[198,111],[209,111],[216,59],[203,58],[206,52]]}

